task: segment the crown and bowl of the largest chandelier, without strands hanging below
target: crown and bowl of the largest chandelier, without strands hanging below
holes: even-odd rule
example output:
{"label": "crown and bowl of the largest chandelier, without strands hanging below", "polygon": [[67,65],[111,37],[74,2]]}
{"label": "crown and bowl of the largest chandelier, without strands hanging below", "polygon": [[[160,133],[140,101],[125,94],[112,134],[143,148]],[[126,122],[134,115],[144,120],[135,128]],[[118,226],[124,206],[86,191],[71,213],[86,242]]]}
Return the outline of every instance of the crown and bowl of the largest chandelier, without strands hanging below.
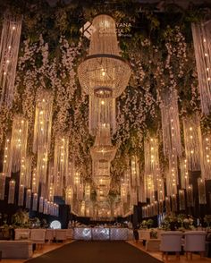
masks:
{"label": "crown and bowl of the largest chandelier, without strands hanging below", "polygon": [[92,26],[89,55],[78,68],[80,85],[89,96],[107,90],[109,97],[117,98],[128,85],[131,68],[120,56],[115,21],[101,14]]}

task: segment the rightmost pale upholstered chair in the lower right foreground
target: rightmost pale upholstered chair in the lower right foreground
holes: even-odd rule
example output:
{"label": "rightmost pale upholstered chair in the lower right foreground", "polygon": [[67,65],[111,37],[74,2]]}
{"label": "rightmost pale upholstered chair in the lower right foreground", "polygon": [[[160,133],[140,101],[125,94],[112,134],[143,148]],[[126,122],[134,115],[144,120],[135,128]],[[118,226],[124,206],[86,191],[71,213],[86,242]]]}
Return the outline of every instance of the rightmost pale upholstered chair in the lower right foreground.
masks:
{"label": "rightmost pale upholstered chair in the lower right foreground", "polygon": [[204,256],[206,234],[205,231],[188,231],[184,233],[184,250],[187,259],[189,253],[190,259],[192,259],[192,252],[199,252],[201,257]]}

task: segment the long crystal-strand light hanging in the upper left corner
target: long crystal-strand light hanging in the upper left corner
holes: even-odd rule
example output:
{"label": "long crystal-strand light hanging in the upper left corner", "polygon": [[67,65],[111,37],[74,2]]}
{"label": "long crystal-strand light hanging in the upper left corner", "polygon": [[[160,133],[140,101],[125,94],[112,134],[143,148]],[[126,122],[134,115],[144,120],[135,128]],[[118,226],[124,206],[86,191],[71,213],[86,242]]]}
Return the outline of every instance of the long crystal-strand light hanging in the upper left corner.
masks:
{"label": "long crystal-strand light hanging in the upper left corner", "polygon": [[0,42],[0,87],[1,100],[11,108],[13,106],[14,81],[18,61],[21,38],[22,18],[8,13],[4,14],[1,42]]}

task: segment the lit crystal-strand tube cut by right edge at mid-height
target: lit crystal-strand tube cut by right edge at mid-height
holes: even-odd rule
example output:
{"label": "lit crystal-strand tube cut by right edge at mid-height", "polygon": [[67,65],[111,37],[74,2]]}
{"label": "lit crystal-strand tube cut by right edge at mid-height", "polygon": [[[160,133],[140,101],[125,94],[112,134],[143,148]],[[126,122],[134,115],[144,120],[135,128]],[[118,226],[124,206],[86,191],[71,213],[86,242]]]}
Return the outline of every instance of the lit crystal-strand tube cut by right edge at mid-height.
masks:
{"label": "lit crystal-strand tube cut by right edge at mid-height", "polygon": [[211,134],[203,134],[202,137],[203,148],[203,166],[201,167],[201,177],[205,180],[211,179]]}

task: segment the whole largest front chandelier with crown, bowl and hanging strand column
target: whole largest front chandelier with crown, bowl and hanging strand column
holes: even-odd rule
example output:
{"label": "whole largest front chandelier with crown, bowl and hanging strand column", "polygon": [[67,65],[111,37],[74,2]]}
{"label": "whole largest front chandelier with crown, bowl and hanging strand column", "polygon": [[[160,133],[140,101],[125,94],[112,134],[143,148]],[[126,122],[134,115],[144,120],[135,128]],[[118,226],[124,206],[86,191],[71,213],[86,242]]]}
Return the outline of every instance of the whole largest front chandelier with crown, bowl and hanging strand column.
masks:
{"label": "whole largest front chandelier with crown, bowl and hanging strand column", "polygon": [[128,85],[131,68],[120,55],[114,19],[97,15],[92,26],[89,55],[80,64],[78,75],[89,95],[89,132],[95,134],[100,123],[115,131],[115,98]]}

